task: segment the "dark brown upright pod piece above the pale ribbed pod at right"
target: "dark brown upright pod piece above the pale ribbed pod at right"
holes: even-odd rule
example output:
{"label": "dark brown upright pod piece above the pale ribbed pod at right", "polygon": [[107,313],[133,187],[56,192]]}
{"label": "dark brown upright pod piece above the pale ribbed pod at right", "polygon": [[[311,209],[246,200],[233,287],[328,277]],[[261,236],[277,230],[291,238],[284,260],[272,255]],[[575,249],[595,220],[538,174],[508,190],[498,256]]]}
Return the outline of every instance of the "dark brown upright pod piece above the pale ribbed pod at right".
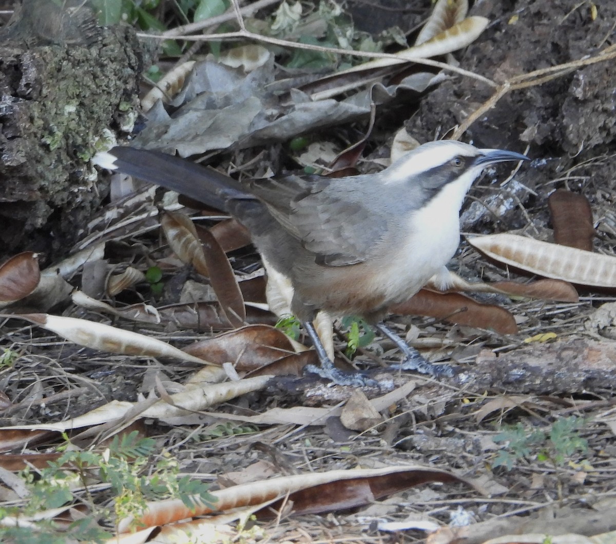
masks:
{"label": "dark brown upright pod piece above the pale ribbed pod at right", "polygon": [[585,251],[593,250],[596,234],[593,211],[583,194],[556,189],[548,197],[548,207],[552,215],[554,242]]}

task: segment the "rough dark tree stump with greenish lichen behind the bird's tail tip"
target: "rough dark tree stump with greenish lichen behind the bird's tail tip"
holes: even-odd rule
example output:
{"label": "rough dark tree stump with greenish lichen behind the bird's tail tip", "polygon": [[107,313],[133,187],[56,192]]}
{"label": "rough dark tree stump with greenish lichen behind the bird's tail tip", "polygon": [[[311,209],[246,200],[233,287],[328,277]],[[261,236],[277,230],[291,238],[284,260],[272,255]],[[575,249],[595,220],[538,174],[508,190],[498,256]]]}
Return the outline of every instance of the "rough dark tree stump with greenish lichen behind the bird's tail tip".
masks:
{"label": "rough dark tree stump with greenish lichen behind the bird's tail tip", "polygon": [[47,22],[57,13],[30,9],[0,32],[0,256],[70,247],[108,191],[88,164],[95,142],[136,112],[132,28],[66,12]]}

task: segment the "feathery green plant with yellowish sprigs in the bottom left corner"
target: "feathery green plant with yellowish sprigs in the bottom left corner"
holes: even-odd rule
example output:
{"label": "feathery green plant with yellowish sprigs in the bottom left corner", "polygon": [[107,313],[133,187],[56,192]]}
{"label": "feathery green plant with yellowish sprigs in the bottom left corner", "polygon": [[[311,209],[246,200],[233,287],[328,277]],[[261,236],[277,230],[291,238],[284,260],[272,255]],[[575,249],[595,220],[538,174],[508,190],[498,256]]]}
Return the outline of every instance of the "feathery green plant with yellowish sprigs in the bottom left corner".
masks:
{"label": "feathery green plant with yellowish sprigs in the bottom left corner", "polygon": [[5,517],[27,519],[28,516],[51,508],[71,505],[76,500],[76,488],[83,488],[90,496],[92,482],[110,486],[113,511],[110,508],[93,508],[89,516],[61,527],[51,520],[29,521],[23,527],[2,527],[0,542],[28,542],[31,544],[61,544],[71,541],[105,542],[111,535],[98,521],[139,516],[147,501],[180,498],[190,509],[195,501],[211,506],[216,498],[208,492],[208,485],[188,476],[179,476],[179,463],[171,455],[162,455],[153,464],[150,456],[155,451],[155,441],[139,438],[137,431],[116,436],[102,452],[70,449],[70,442],[60,448],[61,455],[49,462],[47,468],[35,471],[26,468],[20,473],[28,490],[23,508],[0,509],[0,520]]}

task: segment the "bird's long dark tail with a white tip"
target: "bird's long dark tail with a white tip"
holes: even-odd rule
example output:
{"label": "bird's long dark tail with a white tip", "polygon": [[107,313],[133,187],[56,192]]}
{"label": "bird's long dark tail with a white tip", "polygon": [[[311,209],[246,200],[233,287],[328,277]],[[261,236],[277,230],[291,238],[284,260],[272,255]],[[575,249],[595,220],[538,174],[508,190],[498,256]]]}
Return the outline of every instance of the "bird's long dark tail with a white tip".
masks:
{"label": "bird's long dark tail with a white tip", "polygon": [[230,199],[254,200],[235,179],[181,157],[134,147],[113,147],[107,153],[112,165],[107,161],[100,161],[100,165],[180,192],[223,212],[229,211]]}

